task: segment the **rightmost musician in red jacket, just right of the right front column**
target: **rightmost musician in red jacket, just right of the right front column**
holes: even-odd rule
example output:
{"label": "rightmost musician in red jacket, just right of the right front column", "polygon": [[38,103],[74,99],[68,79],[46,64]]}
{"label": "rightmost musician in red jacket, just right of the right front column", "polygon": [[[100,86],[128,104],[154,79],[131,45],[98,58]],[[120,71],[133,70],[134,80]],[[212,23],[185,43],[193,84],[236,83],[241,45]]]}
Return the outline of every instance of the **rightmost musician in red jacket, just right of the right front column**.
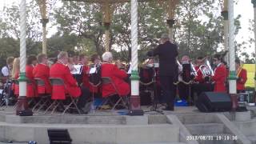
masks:
{"label": "rightmost musician in red jacket, just right of the right front column", "polygon": [[235,70],[236,70],[237,77],[238,77],[238,79],[237,79],[237,92],[238,93],[245,93],[246,92],[245,84],[246,84],[246,81],[247,81],[247,71],[242,68],[239,59],[235,60]]}

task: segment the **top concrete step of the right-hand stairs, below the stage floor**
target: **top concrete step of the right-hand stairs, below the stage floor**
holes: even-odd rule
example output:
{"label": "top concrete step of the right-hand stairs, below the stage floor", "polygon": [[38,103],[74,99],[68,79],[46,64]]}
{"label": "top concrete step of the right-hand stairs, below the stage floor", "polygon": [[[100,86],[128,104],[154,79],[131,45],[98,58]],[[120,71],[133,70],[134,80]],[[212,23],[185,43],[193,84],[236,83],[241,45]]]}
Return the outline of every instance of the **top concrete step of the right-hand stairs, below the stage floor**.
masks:
{"label": "top concrete step of the right-hand stairs, below the stage floor", "polygon": [[199,124],[199,123],[221,123],[214,113],[205,114],[179,114],[178,119],[183,124]]}

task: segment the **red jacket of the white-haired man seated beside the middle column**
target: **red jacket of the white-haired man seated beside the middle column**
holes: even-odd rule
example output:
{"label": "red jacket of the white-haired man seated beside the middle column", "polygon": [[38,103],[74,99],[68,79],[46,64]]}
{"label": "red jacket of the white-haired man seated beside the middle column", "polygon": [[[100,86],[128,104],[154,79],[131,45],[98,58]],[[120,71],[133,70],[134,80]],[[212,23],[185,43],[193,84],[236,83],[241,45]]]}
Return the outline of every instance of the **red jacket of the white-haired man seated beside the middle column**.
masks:
{"label": "red jacket of the white-haired man seated beside the middle column", "polygon": [[[118,90],[119,96],[126,96],[130,93],[130,86],[124,81],[127,78],[126,71],[119,70],[117,66],[110,63],[102,63],[102,77],[110,77],[114,86]],[[114,87],[109,85],[102,86],[102,97],[108,97],[115,93]]]}

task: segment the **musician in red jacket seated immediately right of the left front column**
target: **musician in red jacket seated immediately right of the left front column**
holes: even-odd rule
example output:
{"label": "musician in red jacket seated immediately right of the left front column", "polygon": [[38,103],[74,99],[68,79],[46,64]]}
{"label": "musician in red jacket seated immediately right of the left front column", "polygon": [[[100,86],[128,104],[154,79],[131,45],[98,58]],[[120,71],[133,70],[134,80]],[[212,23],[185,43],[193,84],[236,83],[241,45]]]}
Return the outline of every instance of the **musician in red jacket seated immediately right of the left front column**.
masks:
{"label": "musician in red jacket seated immediately right of the left front column", "polygon": [[33,70],[38,63],[38,59],[34,55],[30,55],[26,60],[26,78],[29,82],[26,86],[26,97],[32,98],[38,96],[37,87],[34,81]]}

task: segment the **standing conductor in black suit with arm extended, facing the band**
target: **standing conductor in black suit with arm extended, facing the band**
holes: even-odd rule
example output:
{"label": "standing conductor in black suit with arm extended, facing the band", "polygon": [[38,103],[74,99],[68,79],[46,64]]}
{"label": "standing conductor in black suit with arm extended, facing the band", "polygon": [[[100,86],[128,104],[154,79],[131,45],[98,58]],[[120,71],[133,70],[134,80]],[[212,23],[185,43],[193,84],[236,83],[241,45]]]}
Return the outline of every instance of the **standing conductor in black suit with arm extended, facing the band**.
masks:
{"label": "standing conductor in black suit with arm extended, facing the band", "polygon": [[154,50],[147,53],[148,56],[159,57],[159,79],[162,92],[167,106],[163,110],[174,110],[174,79],[178,75],[178,65],[176,58],[178,56],[177,46],[170,42],[168,34],[162,34],[161,44]]}

